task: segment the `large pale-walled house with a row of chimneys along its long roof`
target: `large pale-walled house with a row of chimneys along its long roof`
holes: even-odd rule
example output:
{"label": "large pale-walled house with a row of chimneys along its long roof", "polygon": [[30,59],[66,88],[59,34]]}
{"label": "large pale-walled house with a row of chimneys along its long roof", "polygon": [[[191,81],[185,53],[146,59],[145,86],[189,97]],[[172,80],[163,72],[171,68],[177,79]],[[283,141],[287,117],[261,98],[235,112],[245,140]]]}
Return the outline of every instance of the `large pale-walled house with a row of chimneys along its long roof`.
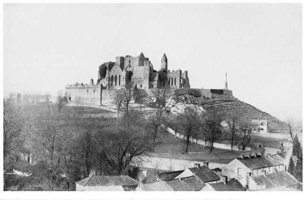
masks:
{"label": "large pale-walled house with a row of chimneys along its long roof", "polygon": [[279,153],[273,156],[270,154],[262,156],[258,153],[254,153],[251,156],[250,153],[247,153],[245,157],[242,155],[240,158],[236,158],[222,167],[221,174],[228,176],[228,178],[242,178],[249,172],[252,175],[262,175],[276,171],[285,171],[284,157],[285,153]]}

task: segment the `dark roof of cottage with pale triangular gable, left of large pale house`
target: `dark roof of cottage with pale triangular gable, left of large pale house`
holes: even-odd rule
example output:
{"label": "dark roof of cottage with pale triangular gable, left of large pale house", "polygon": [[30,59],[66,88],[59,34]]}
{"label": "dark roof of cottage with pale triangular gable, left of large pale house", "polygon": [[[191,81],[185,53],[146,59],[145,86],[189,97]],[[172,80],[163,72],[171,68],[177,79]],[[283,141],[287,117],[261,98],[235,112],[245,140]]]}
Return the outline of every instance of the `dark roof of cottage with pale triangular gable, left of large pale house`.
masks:
{"label": "dark roof of cottage with pale triangular gable, left of large pale house", "polygon": [[204,183],[220,180],[220,177],[209,167],[191,167],[188,169]]}

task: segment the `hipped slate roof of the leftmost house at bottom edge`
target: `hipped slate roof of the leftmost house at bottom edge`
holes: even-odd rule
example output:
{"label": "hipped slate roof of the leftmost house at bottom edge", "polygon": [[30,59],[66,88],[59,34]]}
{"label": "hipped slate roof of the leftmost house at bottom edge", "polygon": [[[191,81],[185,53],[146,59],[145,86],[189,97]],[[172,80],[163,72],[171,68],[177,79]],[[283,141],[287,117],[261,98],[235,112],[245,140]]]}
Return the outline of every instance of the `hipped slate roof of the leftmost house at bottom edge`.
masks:
{"label": "hipped slate roof of the leftmost house at bottom edge", "polygon": [[89,176],[76,182],[82,186],[137,186],[138,182],[129,176]]}

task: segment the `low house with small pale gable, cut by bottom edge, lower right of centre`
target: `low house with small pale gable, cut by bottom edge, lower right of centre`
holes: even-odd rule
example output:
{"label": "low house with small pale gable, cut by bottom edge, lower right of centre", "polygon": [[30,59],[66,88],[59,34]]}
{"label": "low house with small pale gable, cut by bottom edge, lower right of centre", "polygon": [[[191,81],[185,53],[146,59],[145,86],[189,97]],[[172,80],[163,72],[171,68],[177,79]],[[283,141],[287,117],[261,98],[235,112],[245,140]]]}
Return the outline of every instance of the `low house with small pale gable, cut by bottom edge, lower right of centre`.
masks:
{"label": "low house with small pale gable, cut by bottom edge, lower right of centre", "polygon": [[244,186],[237,180],[228,180],[225,176],[223,182],[207,183],[201,191],[245,191]]}

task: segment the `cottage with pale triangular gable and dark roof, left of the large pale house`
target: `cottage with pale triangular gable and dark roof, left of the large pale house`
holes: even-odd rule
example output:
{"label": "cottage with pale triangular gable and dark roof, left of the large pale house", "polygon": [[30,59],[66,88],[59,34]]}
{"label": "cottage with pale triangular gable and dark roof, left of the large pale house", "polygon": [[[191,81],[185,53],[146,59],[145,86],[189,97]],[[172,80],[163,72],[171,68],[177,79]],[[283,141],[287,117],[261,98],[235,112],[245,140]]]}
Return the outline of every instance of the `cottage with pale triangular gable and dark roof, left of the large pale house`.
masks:
{"label": "cottage with pale triangular gable and dark roof, left of the large pale house", "polygon": [[185,169],[175,179],[186,178],[191,176],[197,177],[203,183],[220,182],[220,177],[212,169],[207,166],[199,166],[199,164],[195,164],[195,167]]}

